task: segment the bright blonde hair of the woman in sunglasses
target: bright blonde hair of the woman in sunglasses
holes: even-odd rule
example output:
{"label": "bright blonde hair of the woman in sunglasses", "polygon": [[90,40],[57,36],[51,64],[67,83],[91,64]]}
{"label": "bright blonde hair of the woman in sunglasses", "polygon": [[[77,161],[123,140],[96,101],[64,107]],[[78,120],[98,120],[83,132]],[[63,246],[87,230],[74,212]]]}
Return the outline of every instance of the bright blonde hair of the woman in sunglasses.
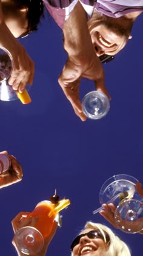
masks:
{"label": "bright blonde hair of the woman in sunglasses", "polygon": [[[124,243],[111,229],[100,223],[88,221],[84,229],[99,229],[106,243],[105,233],[110,237],[110,244],[107,244],[107,252],[105,256],[131,256],[131,252],[127,244]],[[105,232],[105,233],[104,233]],[[71,254],[73,256],[73,253]]]}

